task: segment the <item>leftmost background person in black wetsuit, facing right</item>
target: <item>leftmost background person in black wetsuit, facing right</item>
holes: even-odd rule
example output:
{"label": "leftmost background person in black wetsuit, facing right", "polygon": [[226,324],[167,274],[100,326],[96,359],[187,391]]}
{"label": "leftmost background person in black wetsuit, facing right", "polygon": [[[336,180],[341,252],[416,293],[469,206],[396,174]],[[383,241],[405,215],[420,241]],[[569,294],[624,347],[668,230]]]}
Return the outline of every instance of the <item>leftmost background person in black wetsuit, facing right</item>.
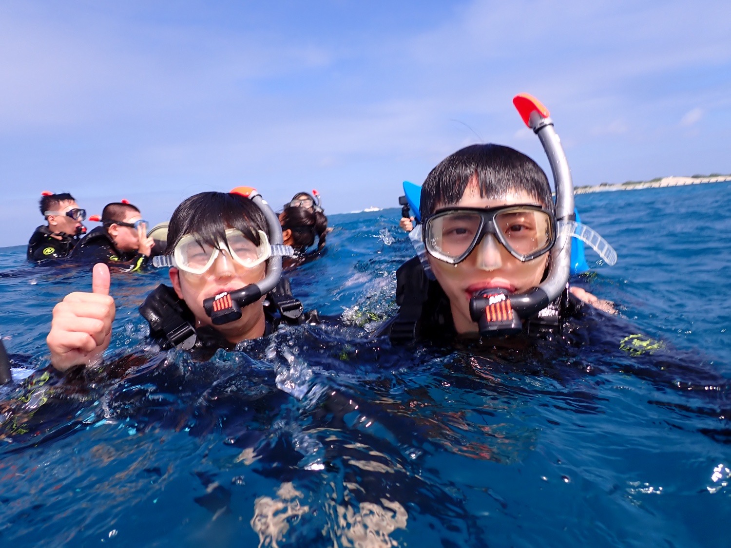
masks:
{"label": "leftmost background person in black wetsuit, facing right", "polygon": [[42,193],[40,210],[47,224],[39,226],[31,236],[28,260],[63,259],[79,243],[85,230],[81,221],[86,219],[86,210],[79,208],[71,194],[49,191]]}

